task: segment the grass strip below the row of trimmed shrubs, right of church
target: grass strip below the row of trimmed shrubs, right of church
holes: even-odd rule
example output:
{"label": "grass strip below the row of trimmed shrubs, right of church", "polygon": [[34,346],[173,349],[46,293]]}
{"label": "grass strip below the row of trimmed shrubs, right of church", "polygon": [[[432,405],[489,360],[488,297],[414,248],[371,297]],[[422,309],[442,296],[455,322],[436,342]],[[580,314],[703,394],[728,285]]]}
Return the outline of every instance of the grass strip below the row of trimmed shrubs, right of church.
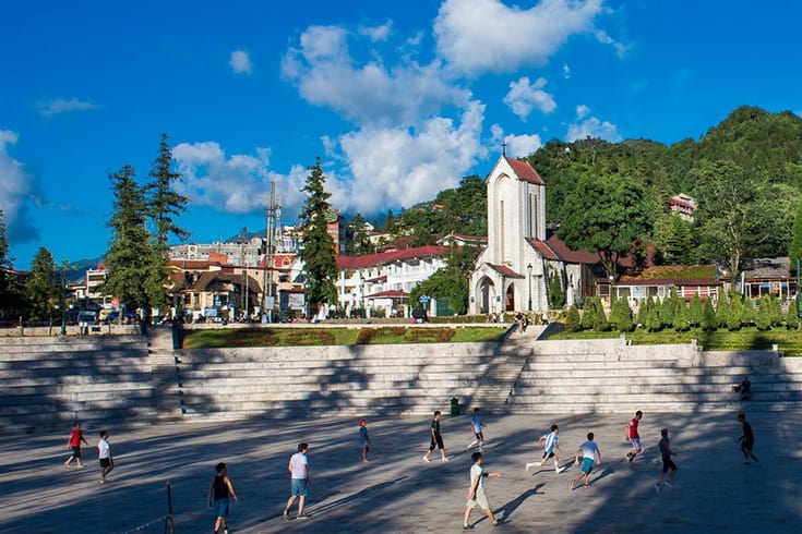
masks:
{"label": "grass strip below the row of trimmed shrubs, right of church", "polygon": [[[559,332],[549,336],[549,339],[609,339],[618,338],[619,332]],[[787,356],[802,356],[802,332],[797,330],[775,329],[759,331],[756,328],[743,328],[739,331],[717,330],[705,332],[698,329],[686,332],[661,331],[647,332],[637,329],[627,332],[627,339],[635,344],[683,344],[697,339],[706,351],[743,351],[743,350],[770,350],[777,343],[780,351]]]}

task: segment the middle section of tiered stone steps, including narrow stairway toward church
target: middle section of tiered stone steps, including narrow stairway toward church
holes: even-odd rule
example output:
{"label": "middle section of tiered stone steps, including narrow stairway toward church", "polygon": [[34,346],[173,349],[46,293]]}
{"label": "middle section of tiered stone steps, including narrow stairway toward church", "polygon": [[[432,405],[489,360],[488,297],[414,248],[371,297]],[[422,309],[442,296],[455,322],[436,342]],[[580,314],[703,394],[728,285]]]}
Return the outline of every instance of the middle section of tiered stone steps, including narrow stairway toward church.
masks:
{"label": "middle section of tiered stone steps, including narrow stairway toward church", "polygon": [[[506,343],[184,350],[185,417],[430,414],[504,405],[537,331]],[[524,341],[525,340],[525,341]]]}

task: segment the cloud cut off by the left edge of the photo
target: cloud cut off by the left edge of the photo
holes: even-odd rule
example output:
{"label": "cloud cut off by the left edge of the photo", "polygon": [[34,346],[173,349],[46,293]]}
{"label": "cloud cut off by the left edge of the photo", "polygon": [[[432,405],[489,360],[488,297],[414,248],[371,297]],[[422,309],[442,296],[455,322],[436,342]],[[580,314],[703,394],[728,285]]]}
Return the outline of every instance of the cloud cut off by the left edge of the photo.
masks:
{"label": "cloud cut off by the left edge of the photo", "polygon": [[9,239],[25,242],[38,236],[27,213],[27,203],[38,201],[39,196],[34,178],[21,161],[9,154],[8,146],[14,145],[16,139],[16,132],[0,130],[0,209]]}

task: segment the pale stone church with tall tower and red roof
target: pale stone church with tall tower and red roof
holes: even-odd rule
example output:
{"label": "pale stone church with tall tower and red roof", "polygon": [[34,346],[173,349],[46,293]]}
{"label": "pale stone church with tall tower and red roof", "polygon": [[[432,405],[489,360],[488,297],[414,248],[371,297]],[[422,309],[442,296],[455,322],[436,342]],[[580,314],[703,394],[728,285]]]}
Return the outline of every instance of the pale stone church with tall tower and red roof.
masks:
{"label": "pale stone church with tall tower and red roof", "polygon": [[547,238],[546,182],[526,161],[501,156],[486,180],[488,244],[470,277],[468,313],[546,312],[551,277],[576,303],[598,257]]}

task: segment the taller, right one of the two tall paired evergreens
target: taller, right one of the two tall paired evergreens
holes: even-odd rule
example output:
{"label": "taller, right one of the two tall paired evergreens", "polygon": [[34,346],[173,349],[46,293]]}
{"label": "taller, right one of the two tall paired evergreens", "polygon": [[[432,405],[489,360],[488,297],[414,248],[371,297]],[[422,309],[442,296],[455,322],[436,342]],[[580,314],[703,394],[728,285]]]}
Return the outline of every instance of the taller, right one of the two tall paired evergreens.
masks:
{"label": "taller, right one of the two tall paired evergreens", "polygon": [[187,211],[189,199],[173,189],[175,184],[181,180],[181,173],[175,172],[173,167],[175,160],[167,144],[167,134],[163,133],[158,156],[153,161],[148,173],[152,181],[144,187],[147,215],[153,223],[152,265],[146,280],[146,291],[149,300],[149,305],[145,310],[147,315],[149,315],[151,306],[160,307],[168,304],[169,271],[167,270],[167,257],[170,235],[178,238],[180,241],[185,241],[190,235],[178,223],[178,218]]}

